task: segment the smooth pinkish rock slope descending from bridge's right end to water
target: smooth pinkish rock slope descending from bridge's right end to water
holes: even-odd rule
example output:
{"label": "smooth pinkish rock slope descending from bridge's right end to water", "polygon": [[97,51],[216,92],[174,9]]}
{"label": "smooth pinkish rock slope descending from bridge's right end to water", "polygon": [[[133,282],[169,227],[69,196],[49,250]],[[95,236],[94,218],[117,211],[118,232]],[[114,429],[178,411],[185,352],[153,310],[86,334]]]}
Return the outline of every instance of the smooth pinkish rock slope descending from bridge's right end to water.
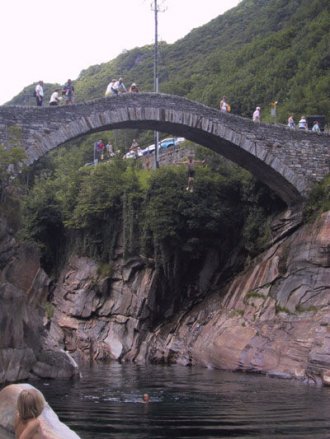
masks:
{"label": "smooth pinkish rock slope descending from bridge's right end to water", "polygon": [[273,245],[227,288],[149,334],[145,346],[149,361],[328,384],[330,212]]}

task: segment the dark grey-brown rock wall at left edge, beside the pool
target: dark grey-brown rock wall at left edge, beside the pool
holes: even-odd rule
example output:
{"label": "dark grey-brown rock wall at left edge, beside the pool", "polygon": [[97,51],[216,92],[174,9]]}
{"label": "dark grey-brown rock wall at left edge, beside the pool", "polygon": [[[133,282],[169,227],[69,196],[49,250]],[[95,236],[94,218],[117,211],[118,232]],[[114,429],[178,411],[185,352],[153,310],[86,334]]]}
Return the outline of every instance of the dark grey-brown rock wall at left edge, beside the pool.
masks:
{"label": "dark grey-brown rock wall at left edge, beside the pool", "polygon": [[[32,245],[18,246],[0,219],[0,382],[31,374],[72,377],[78,367],[68,353],[45,345],[49,279]],[[65,367],[63,368],[63,364]]]}

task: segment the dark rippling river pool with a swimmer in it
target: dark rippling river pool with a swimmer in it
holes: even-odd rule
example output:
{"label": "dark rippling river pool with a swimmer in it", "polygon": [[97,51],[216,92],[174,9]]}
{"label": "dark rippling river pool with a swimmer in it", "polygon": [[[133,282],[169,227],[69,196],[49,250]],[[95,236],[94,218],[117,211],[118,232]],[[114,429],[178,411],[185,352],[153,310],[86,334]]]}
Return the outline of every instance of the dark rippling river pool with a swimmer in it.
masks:
{"label": "dark rippling river pool with a swimmer in it", "polygon": [[83,439],[330,438],[330,389],[295,381],[113,364],[33,384]]}

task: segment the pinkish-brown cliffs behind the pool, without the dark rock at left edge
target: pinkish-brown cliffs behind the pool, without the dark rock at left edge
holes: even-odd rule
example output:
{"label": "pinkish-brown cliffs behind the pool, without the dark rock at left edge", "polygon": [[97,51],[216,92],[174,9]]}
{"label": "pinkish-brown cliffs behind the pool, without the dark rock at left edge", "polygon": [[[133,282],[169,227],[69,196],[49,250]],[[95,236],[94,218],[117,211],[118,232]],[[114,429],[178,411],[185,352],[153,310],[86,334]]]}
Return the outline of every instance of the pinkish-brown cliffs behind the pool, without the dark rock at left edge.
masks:
{"label": "pinkish-brown cliffs behind the pool, without the dark rock at left edge", "polygon": [[159,273],[142,259],[125,265],[118,250],[111,278],[102,278],[95,262],[72,257],[54,292],[49,343],[76,359],[176,362],[328,384],[330,212],[294,233],[284,229],[244,273],[204,295],[201,286],[216,276],[216,264],[206,269],[210,257],[180,310],[171,291],[164,308]]}

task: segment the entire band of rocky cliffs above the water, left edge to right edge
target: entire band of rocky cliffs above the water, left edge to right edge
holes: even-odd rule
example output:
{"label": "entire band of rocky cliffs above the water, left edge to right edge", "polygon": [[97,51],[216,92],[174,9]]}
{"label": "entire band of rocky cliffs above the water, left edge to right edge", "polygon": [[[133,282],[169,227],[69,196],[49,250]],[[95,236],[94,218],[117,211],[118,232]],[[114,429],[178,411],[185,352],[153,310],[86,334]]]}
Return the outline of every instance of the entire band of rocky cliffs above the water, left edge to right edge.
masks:
{"label": "entire band of rocky cliffs above the water, left edge to right edge", "polygon": [[[179,293],[153,261],[124,261],[120,242],[107,274],[73,255],[52,292],[51,312],[40,306],[49,280],[37,253],[3,233],[0,381],[30,373],[73,376],[73,357],[176,362],[329,384],[330,212],[314,224],[298,222],[290,212],[282,215],[268,250],[230,282],[221,282],[217,255],[210,253]],[[58,356],[66,358],[61,368]]]}

